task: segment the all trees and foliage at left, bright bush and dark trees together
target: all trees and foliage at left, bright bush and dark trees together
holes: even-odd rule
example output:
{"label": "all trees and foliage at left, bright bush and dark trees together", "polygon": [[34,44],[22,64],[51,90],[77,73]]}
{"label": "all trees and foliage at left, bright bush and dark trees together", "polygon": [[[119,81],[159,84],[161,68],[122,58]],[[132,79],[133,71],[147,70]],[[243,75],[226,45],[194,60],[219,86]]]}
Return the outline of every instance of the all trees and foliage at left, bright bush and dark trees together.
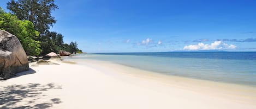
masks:
{"label": "all trees and foliage at left, bright bush and dark trees together", "polygon": [[0,29],[16,35],[27,55],[58,53],[59,50],[82,53],[76,42],[64,43],[62,34],[49,30],[56,23],[51,15],[58,9],[54,0],[11,0],[7,9],[10,13],[1,10]]}

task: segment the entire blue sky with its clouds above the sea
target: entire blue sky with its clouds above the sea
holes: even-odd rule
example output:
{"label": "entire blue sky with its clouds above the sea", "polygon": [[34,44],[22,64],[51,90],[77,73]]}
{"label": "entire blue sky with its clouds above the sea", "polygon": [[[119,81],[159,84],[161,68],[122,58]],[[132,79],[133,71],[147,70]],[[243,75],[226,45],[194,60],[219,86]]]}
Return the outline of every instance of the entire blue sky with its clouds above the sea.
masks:
{"label": "entire blue sky with its clouds above the sea", "polygon": [[[1,0],[6,9],[10,0]],[[88,53],[256,51],[254,0],[55,0],[50,29]]]}

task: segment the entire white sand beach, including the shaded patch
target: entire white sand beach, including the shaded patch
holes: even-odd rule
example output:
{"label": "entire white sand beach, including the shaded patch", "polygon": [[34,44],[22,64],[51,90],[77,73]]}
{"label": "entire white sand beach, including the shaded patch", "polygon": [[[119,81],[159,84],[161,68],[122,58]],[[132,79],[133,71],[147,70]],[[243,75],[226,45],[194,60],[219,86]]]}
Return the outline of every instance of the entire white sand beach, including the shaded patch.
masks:
{"label": "entire white sand beach, including the shaded patch", "polygon": [[103,61],[57,63],[31,67],[1,81],[0,108],[256,108],[255,87],[166,76]]}

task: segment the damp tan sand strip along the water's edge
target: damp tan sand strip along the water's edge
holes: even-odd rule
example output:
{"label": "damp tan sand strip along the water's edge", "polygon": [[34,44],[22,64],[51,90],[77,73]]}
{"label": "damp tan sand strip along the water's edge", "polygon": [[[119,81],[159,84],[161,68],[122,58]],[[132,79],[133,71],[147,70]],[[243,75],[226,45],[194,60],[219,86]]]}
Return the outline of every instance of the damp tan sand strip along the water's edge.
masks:
{"label": "damp tan sand strip along the water's edge", "polygon": [[[82,61],[76,61],[78,65],[84,66]],[[233,95],[244,97],[245,99],[256,100],[256,87],[251,85],[232,84],[228,82],[218,82],[204,79],[187,78],[184,76],[169,75],[149,70],[138,69],[131,66],[121,65],[111,61],[91,60],[87,59],[86,63],[91,67],[101,67],[102,69],[109,69],[112,75],[122,74],[128,78],[143,79],[150,82],[157,82],[158,84],[178,87],[190,91],[201,91],[201,93],[217,95],[219,97],[232,98]],[[85,62],[84,62],[85,63]],[[133,72],[130,72],[133,71]],[[214,88],[213,88],[214,87]],[[254,103],[252,101],[251,103]]]}

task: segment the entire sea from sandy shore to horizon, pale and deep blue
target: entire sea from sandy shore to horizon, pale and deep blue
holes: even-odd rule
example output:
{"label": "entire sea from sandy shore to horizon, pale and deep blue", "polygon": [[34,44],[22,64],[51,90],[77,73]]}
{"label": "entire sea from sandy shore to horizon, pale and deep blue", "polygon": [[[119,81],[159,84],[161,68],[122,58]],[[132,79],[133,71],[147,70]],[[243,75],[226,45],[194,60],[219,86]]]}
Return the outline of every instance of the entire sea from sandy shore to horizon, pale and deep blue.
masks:
{"label": "entire sea from sandy shore to horizon, pale and deep blue", "polygon": [[168,75],[256,86],[255,52],[99,53],[73,59],[111,61]]}

